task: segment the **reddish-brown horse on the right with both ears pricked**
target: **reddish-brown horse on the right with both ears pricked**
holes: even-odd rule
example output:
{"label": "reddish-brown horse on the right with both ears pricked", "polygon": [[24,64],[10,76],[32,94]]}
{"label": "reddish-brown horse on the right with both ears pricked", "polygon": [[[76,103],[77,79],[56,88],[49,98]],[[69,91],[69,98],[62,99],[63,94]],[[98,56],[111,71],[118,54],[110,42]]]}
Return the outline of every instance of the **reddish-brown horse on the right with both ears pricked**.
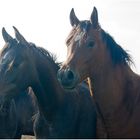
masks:
{"label": "reddish-brown horse on the right with both ears pricked", "polygon": [[90,20],[84,21],[79,21],[72,9],[70,22],[68,57],[58,80],[64,88],[72,89],[89,78],[103,125],[98,127],[98,137],[104,137],[102,129],[108,138],[140,138],[140,76],[129,66],[130,55],[101,28],[95,7]]}

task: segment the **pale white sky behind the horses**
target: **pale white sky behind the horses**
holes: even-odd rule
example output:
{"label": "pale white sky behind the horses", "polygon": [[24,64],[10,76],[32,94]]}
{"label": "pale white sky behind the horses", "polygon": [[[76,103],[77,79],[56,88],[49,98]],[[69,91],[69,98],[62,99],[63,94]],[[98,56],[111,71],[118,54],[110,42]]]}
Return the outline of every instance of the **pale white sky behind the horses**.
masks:
{"label": "pale white sky behind the horses", "polygon": [[[0,30],[14,36],[16,26],[27,41],[66,59],[65,39],[71,30],[69,13],[75,9],[81,20],[89,19],[93,6],[101,27],[132,55],[140,74],[140,0],[0,0]],[[0,34],[0,48],[4,45]]]}

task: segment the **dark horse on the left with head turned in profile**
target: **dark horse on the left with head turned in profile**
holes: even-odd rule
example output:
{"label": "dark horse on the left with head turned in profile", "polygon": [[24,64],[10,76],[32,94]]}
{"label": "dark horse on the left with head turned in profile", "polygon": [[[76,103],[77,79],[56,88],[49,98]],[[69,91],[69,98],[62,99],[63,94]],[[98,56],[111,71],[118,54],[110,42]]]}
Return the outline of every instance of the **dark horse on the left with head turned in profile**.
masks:
{"label": "dark horse on the left with head turned in profile", "polygon": [[37,138],[95,138],[96,112],[88,88],[83,84],[64,90],[57,80],[59,65],[51,55],[14,30],[16,39],[2,30],[6,45],[0,57],[0,97],[17,96],[32,87],[39,106]]}

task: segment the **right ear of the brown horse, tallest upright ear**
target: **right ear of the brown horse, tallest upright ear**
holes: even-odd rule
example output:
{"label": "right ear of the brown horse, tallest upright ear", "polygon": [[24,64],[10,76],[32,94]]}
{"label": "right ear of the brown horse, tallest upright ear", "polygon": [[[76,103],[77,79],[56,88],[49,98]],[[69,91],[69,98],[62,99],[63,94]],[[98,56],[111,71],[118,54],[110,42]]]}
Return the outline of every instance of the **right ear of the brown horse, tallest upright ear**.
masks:
{"label": "right ear of the brown horse, tallest upright ear", "polygon": [[93,8],[93,11],[92,11],[91,17],[90,17],[90,21],[91,21],[91,23],[92,23],[94,28],[97,28],[99,26],[99,23],[98,23],[98,12],[97,12],[96,7]]}

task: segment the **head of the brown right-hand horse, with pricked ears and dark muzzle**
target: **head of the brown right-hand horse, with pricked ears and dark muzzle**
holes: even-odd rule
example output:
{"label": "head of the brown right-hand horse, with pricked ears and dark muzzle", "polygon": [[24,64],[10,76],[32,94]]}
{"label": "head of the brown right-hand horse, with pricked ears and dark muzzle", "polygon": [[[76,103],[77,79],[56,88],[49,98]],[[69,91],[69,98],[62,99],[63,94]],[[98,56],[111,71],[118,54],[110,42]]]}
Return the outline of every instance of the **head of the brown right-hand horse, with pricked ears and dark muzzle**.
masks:
{"label": "head of the brown right-hand horse, with pricked ears and dark muzzle", "polygon": [[98,63],[103,60],[97,9],[94,7],[90,20],[83,21],[76,17],[72,9],[70,23],[73,28],[66,39],[67,60],[58,72],[58,80],[65,88],[74,88],[89,76],[93,67],[97,67],[97,60]]}

